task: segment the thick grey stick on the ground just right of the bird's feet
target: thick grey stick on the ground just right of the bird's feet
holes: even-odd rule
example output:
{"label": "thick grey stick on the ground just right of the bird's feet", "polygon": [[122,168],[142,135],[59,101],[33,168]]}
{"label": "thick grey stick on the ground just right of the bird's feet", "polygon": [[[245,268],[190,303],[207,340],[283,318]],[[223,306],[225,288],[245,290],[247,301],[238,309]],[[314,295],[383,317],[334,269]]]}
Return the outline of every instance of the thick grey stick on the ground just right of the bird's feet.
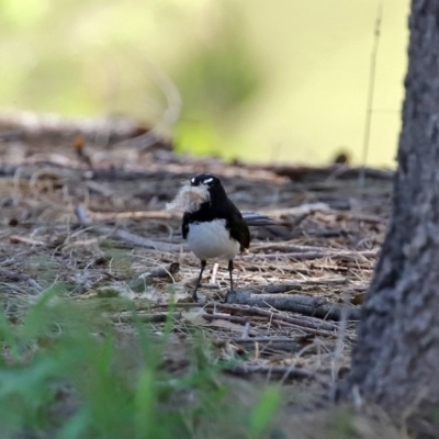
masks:
{"label": "thick grey stick on the ground just right of the bird's feet", "polygon": [[[345,305],[327,302],[319,297],[311,297],[299,294],[254,294],[247,291],[229,291],[226,297],[227,303],[239,305],[250,305],[268,307],[272,306],[280,311],[292,311],[314,317],[328,318],[331,320],[340,320],[341,311]],[[360,319],[359,308],[348,308],[347,318],[349,320]]]}

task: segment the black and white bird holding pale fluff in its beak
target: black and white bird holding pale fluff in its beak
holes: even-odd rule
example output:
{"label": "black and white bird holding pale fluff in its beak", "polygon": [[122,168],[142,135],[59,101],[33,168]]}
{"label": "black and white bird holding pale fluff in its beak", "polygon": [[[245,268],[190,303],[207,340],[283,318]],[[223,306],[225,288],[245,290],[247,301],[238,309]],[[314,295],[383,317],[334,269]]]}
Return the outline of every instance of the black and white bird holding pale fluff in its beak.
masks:
{"label": "black and white bird holding pale fluff in its beak", "polygon": [[198,300],[203,271],[209,259],[228,261],[230,290],[234,289],[234,259],[250,246],[248,225],[270,225],[271,218],[259,214],[244,217],[227,196],[221,180],[211,173],[200,173],[181,188],[168,209],[183,210],[181,232],[189,249],[200,259],[201,270],[193,299]]}

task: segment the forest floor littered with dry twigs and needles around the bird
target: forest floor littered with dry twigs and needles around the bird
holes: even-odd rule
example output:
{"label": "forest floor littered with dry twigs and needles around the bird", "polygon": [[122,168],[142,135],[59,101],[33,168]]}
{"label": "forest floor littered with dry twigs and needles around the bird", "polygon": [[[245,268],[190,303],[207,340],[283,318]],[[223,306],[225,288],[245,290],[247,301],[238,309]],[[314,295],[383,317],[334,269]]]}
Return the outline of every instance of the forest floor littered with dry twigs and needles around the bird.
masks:
{"label": "forest floor littered with dry twigs and needles around the bird", "polygon": [[[301,413],[330,399],[333,383],[349,370],[389,219],[392,171],[365,169],[361,183],[348,165],[181,156],[130,120],[4,117],[0,143],[0,296],[9,322],[20,323],[45,291],[61,285],[63,297],[104,316],[128,350],[133,318],[151,335],[170,324],[162,364],[176,375],[188,368],[185,344],[196,334],[210,345],[211,362],[225,361],[222,374],[240,397],[241,385],[270,382]],[[166,210],[199,172],[218,176],[243,212],[282,223],[251,228],[227,303],[226,266],[213,262],[200,303],[192,302],[199,260],[182,241],[181,214]],[[325,430],[315,418],[312,429],[319,423]],[[292,437],[314,437],[299,424]],[[385,437],[362,431],[358,437]]]}

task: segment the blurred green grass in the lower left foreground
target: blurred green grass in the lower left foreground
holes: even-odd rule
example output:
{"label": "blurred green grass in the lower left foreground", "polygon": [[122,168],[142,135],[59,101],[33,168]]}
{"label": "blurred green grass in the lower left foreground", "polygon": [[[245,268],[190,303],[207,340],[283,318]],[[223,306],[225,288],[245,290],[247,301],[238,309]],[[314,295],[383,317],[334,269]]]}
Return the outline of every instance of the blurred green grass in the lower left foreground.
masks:
{"label": "blurred green grass in the lower left foreground", "polygon": [[1,438],[261,437],[278,391],[246,416],[196,329],[184,348],[188,367],[171,373],[162,362],[171,322],[157,336],[133,311],[136,336],[126,348],[95,309],[60,299],[63,290],[47,291],[18,323],[0,313]]}

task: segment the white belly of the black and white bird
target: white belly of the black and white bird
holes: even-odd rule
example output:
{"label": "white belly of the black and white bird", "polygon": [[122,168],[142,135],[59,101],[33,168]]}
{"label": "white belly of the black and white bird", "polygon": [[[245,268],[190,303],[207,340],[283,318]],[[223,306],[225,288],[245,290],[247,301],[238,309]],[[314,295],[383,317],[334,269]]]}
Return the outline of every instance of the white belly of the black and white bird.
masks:
{"label": "white belly of the black and white bird", "polygon": [[230,238],[224,219],[190,224],[188,245],[201,260],[213,258],[230,260],[239,252],[239,243]]}

